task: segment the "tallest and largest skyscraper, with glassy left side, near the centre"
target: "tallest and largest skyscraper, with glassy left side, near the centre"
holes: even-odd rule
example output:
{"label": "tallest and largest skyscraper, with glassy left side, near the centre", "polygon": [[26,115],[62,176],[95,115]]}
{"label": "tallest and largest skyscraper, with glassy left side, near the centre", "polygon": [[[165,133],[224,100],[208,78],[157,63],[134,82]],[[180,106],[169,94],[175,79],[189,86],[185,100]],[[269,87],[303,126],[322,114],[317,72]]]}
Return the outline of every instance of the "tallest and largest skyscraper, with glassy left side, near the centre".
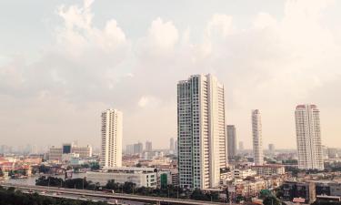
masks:
{"label": "tallest and largest skyscraper, with glassy left side, near the centre", "polygon": [[217,187],[227,159],[224,86],[216,77],[177,84],[177,135],[180,187]]}

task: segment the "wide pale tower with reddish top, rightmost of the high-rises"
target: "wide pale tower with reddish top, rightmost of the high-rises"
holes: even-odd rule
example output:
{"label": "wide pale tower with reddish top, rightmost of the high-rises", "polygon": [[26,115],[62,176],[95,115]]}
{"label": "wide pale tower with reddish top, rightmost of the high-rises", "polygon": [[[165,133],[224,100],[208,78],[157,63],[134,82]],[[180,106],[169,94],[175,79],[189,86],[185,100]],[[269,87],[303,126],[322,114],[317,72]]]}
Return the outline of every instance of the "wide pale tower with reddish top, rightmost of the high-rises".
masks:
{"label": "wide pale tower with reddish top, rightmost of the high-rises", "polygon": [[295,111],[299,169],[324,169],[319,110],[299,105]]}

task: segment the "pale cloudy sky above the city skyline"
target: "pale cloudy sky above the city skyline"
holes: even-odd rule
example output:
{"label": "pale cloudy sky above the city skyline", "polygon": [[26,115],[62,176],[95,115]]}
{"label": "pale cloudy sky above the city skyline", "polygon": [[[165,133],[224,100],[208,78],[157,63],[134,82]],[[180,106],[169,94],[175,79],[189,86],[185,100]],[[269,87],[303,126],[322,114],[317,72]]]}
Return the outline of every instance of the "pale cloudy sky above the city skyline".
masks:
{"label": "pale cloudy sky above the city skyline", "polygon": [[100,115],[124,113],[123,143],[176,138],[176,83],[211,73],[226,122],[251,148],[295,149],[298,104],[320,109],[341,147],[341,2],[0,1],[0,144],[100,143]]}

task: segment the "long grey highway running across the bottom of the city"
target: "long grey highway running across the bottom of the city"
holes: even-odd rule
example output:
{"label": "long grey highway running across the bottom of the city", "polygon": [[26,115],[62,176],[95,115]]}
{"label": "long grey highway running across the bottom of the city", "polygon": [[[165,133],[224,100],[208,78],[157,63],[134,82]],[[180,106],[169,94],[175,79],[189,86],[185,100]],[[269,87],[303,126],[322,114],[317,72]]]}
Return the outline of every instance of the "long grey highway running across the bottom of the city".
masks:
{"label": "long grey highway running across the bottom of the city", "polygon": [[[132,194],[120,194],[120,193],[104,193],[101,191],[92,191],[92,190],[73,190],[73,189],[64,189],[64,188],[55,188],[55,187],[42,187],[42,186],[29,186],[29,185],[18,185],[18,184],[8,184],[3,183],[0,184],[3,187],[14,187],[17,190],[32,190],[32,191],[40,191],[40,192],[49,192],[52,193],[53,196],[65,196],[66,197],[77,197],[76,200],[79,200],[79,196],[85,196],[86,198],[91,199],[115,199],[115,200],[129,200],[129,201],[138,201],[138,202],[147,202],[147,203],[156,203],[156,204],[174,204],[174,205],[226,205],[227,203],[219,203],[219,202],[210,202],[210,201],[202,201],[202,200],[178,200],[171,198],[160,198],[160,197],[147,197],[140,195],[132,195]],[[57,193],[59,195],[55,195]]]}

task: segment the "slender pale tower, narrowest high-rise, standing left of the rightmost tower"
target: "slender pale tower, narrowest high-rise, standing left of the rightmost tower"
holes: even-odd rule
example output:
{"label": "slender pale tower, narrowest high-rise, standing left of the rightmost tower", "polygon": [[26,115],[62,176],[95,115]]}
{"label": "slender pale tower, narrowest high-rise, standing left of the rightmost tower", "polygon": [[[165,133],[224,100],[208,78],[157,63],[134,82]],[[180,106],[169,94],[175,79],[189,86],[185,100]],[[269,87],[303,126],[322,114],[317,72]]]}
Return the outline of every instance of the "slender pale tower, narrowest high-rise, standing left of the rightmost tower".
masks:
{"label": "slender pale tower, narrowest high-rise, standing left of the rightmost tower", "polygon": [[262,121],[258,109],[252,110],[252,137],[255,165],[263,165]]}

